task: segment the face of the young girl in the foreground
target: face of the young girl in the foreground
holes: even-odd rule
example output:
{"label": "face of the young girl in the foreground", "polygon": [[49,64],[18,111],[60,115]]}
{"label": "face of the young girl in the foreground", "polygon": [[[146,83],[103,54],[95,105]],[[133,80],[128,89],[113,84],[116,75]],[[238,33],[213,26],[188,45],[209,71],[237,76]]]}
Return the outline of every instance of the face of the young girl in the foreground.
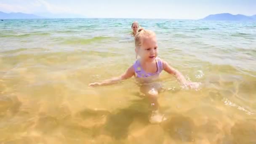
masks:
{"label": "face of the young girl in the foreground", "polygon": [[156,37],[144,37],[140,48],[136,51],[142,60],[154,61],[158,55]]}

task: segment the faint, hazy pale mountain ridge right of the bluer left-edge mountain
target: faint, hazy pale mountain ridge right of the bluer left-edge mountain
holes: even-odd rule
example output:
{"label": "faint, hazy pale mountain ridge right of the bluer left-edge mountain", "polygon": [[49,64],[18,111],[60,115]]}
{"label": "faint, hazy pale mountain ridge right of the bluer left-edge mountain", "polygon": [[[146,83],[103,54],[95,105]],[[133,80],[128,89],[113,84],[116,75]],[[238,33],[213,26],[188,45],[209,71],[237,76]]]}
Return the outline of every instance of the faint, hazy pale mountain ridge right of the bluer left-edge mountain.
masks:
{"label": "faint, hazy pale mountain ridge right of the bluer left-edge mountain", "polygon": [[63,18],[63,19],[72,19],[72,18],[86,18],[83,15],[80,14],[72,14],[72,13],[35,13],[38,16],[47,17],[51,19],[55,18]]}

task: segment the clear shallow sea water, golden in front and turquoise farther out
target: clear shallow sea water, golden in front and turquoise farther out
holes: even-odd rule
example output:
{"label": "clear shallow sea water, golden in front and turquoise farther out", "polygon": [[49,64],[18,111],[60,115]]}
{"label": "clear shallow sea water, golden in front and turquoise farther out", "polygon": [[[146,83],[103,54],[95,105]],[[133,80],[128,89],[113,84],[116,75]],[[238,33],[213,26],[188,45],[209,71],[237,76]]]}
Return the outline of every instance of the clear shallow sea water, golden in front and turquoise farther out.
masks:
{"label": "clear shallow sea water, golden in front and turquoise farther out", "polygon": [[[199,90],[162,72],[150,124],[134,78],[131,24],[155,31],[159,57]],[[256,23],[166,19],[0,21],[1,144],[256,144]]]}

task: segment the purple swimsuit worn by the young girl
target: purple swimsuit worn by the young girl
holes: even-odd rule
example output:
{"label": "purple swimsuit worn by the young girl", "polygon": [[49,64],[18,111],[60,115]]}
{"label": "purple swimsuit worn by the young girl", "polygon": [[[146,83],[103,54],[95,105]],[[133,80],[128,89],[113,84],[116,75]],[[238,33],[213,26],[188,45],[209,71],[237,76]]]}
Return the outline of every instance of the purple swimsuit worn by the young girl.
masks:
{"label": "purple swimsuit worn by the young girl", "polygon": [[163,70],[163,63],[162,63],[162,60],[160,58],[156,58],[155,59],[155,62],[157,64],[157,72],[154,72],[154,73],[147,73],[145,72],[142,67],[141,67],[141,64],[140,64],[140,61],[137,60],[134,64],[133,64],[133,67],[134,67],[134,70],[135,70],[135,77],[152,77],[152,76],[159,76],[159,74],[162,72]]}

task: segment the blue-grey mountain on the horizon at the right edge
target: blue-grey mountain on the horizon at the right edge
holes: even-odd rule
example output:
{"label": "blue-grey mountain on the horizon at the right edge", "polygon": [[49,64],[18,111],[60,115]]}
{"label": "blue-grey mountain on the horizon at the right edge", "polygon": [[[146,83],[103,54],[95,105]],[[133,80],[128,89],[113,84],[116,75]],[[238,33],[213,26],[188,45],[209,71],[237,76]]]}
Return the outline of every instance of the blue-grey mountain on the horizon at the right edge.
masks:
{"label": "blue-grey mountain on the horizon at the right edge", "polygon": [[[245,16],[242,14],[232,15],[230,13],[219,13],[206,16],[202,20],[216,20],[216,21],[253,21],[255,16]],[[254,18],[253,18],[254,17]]]}

